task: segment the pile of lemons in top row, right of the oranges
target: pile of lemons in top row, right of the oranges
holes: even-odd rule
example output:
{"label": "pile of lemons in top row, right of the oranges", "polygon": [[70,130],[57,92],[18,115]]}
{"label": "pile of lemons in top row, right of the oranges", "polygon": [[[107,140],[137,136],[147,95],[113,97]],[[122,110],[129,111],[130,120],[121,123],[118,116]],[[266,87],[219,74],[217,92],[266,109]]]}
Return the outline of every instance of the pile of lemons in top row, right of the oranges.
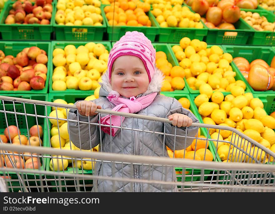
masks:
{"label": "pile of lemons in top row, right of the oranges", "polygon": [[203,28],[200,14],[191,12],[188,7],[182,7],[179,3],[174,6],[171,2],[156,3],[152,7],[151,12],[160,27]]}

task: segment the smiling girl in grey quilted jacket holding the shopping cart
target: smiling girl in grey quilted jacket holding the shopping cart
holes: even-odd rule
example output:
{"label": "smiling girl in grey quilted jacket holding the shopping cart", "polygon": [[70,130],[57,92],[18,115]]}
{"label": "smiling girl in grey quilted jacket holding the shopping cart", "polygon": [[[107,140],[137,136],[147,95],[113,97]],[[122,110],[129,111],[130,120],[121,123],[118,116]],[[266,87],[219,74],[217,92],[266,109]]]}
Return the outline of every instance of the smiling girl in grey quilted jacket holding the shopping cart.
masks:
{"label": "smiling girl in grey quilted jacket holding the shopping cart", "polygon": [[[103,152],[120,154],[148,155],[169,157],[163,143],[172,150],[188,147],[195,137],[197,128],[189,127],[198,119],[178,100],[160,95],[163,74],[155,67],[156,51],[151,41],[141,32],[126,32],[117,41],[108,58],[108,69],[102,75],[99,98],[92,101],[79,101],[76,109],[71,109],[68,119],[79,119],[69,122],[70,137],[75,146],[81,149],[91,149],[99,145]],[[96,109],[107,109],[118,112],[168,118],[172,124],[142,119],[132,119],[116,115],[101,114],[98,118]],[[163,135],[148,132],[138,132],[119,128],[110,129],[97,125],[82,124],[81,121],[101,123],[112,126],[122,126],[144,131],[164,132],[183,137]],[[99,121],[100,120],[100,121]],[[187,129],[187,127],[189,127]],[[164,129],[165,128],[165,129]],[[90,129],[90,130],[89,130]],[[176,130],[175,130],[176,129]],[[187,133],[186,133],[187,132]],[[111,136],[110,136],[111,135]],[[112,140],[111,140],[112,138]],[[175,145],[174,145],[175,144]],[[153,179],[176,181],[173,167],[163,170],[161,166],[146,166],[118,163],[97,162],[95,175],[112,176],[117,178],[129,177],[137,179]],[[176,185],[147,184],[138,182],[113,182],[94,180],[93,191],[99,192],[177,192]],[[95,187],[96,186],[96,187]]]}

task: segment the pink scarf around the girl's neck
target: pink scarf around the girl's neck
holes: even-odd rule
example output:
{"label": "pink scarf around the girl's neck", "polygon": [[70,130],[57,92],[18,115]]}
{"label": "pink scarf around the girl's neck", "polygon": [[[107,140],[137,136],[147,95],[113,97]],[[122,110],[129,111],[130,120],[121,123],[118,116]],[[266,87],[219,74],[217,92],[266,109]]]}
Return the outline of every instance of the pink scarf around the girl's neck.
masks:
{"label": "pink scarf around the girl's neck", "polygon": [[[135,98],[134,96],[130,97],[129,99],[125,99],[119,96],[118,92],[111,91],[107,96],[107,99],[116,105],[112,109],[112,111],[118,112],[125,112],[125,113],[136,113],[148,105],[150,105],[158,93],[151,93],[149,95],[145,95],[139,98]],[[112,126],[120,126],[125,117],[122,117],[122,122],[120,120],[121,116],[118,115],[107,115],[100,119],[101,124],[110,125],[110,119],[112,120]],[[110,134],[110,127],[101,126],[103,132]],[[112,136],[115,136],[118,128],[112,128]]]}

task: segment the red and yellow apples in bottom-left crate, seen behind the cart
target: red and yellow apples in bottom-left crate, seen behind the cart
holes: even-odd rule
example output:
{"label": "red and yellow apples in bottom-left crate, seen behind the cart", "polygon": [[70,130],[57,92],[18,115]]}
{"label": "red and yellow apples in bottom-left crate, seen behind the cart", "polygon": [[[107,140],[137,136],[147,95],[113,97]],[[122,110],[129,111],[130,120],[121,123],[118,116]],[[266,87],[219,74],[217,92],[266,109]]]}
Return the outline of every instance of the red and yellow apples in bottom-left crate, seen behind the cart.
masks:
{"label": "red and yellow apples in bottom-left crate, seen behind the cart", "polygon": [[[4,134],[0,134],[1,143],[12,143],[18,145],[30,145],[30,146],[42,146],[43,129],[41,125],[33,125],[29,129],[30,137],[27,138],[21,134],[20,129],[17,129],[15,125],[9,125],[5,130]],[[37,153],[24,152],[18,154],[14,151],[8,151],[9,153],[5,156],[0,155],[0,167],[13,168],[11,161],[16,168],[26,169],[38,169],[41,167],[41,162]]]}

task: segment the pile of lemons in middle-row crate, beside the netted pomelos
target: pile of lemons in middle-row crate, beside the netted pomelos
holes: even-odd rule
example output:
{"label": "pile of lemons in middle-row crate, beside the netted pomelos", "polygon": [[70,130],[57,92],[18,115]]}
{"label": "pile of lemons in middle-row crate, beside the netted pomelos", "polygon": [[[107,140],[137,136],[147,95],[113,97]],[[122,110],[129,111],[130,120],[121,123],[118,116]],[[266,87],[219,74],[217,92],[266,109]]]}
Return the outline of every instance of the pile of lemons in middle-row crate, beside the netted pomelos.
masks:
{"label": "pile of lemons in middle-row crate, beside the netted pomelos", "polygon": [[[204,41],[183,37],[179,45],[172,46],[172,50],[192,90],[199,90],[202,84],[208,83],[213,90],[226,92],[236,82],[236,72],[232,71],[230,65],[232,55],[223,53],[220,46],[207,48]],[[245,85],[243,81],[239,82]]]}

